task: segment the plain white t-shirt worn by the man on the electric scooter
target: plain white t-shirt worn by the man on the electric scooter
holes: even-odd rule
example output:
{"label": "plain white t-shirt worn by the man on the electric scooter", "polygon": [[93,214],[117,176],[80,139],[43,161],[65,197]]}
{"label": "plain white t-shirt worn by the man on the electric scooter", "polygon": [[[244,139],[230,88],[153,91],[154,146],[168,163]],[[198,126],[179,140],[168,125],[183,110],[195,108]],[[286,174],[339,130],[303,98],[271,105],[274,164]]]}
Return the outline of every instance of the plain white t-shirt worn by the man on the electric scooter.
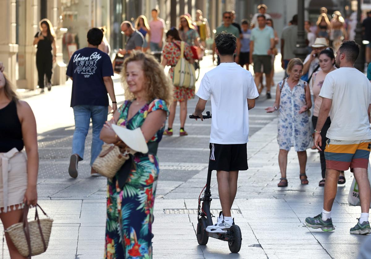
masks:
{"label": "plain white t-shirt worn by the man on the electric scooter", "polygon": [[211,98],[210,143],[247,143],[249,109],[246,99],[259,96],[250,71],[236,63],[220,63],[204,75],[196,95],[203,100]]}

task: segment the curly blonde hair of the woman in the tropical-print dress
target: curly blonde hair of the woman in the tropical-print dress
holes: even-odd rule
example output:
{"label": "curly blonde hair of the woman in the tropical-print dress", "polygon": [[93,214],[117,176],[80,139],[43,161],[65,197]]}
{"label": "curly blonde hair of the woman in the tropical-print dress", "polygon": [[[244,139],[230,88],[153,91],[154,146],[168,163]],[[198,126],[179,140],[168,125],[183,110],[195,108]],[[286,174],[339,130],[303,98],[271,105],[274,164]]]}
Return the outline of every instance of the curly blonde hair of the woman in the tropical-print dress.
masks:
{"label": "curly blonde hair of the woman in the tropical-print dress", "polygon": [[121,83],[125,91],[125,100],[132,100],[135,95],[129,91],[129,86],[126,82],[126,68],[132,61],[141,61],[142,69],[145,77],[145,89],[147,91],[147,100],[161,99],[164,100],[169,107],[174,100],[173,84],[165,75],[164,68],[150,54],[145,54],[142,51],[132,51],[130,56],[125,59],[121,70]]}

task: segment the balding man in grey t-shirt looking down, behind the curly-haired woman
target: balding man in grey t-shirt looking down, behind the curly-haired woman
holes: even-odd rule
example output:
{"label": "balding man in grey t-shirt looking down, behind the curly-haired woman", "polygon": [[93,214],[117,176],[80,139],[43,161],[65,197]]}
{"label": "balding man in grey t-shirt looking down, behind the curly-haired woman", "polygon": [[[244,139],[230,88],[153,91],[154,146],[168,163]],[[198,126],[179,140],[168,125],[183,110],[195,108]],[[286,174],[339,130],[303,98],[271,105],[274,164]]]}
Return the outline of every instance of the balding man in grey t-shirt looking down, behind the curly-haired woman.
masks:
{"label": "balding man in grey t-shirt looking down, behind the curly-haired woman", "polygon": [[131,22],[123,21],[121,23],[121,33],[125,34],[126,37],[129,37],[125,44],[125,49],[119,49],[118,53],[124,55],[124,58],[127,58],[132,50],[142,50],[144,37],[138,31],[135,30]]}

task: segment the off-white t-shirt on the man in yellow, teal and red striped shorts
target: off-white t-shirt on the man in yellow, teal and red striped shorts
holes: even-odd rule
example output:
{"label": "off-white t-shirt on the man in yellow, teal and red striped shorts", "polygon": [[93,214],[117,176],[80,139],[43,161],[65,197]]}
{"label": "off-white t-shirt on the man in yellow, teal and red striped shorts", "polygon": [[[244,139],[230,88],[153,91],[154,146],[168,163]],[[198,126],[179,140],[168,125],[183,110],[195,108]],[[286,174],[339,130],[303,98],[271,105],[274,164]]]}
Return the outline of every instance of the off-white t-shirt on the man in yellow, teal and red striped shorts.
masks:
{"label": "off-white t-shirt on the man in yellow, teal and red striped shorts", "polygon": [[356,68],[341,67],[325,77],[319,96],[332,99],[331,126],[326,137],[335,140],[371,139],[368,105],[371,83]]}

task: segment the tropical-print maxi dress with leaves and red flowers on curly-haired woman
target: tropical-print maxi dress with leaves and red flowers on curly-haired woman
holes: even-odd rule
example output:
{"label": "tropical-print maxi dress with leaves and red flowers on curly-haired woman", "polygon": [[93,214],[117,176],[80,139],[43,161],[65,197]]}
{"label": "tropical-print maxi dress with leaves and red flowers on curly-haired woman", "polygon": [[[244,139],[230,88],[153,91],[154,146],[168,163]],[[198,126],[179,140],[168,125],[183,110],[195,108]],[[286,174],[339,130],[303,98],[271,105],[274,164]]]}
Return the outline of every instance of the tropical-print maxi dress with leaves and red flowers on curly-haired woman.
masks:
{"label": "tropical-print maxi dress with leaves and red flowers on curly-haired woman", "polygon": [[[125,101],[119,108],[117,125],[135,129],[142,126],[152,111],[164,110],[168,115],[165,101],[155,99],[127,120],[130,103]],[[164,127],[149,142],[160,142],[163,132]],[[135,155],[133,161],[136,170],[131,170],[123,189],[120,189],[116,176],[107,181],[105,259],[152,258],[151,230],[159,172],[158,159],[151,154]]]}

